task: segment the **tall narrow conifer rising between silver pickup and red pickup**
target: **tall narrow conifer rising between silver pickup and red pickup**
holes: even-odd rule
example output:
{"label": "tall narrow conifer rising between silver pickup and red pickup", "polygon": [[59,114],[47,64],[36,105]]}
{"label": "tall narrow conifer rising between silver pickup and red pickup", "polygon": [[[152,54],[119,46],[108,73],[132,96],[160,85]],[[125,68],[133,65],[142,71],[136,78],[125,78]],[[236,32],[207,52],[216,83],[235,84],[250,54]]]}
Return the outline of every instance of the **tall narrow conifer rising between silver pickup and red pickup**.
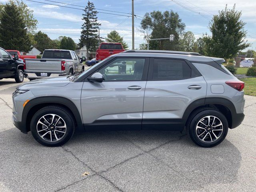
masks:
{"label": "tall narrow conifer rising between silver pickup and red pickup", "polygon": [[95,51],[98,46],[98,29],[100,23],[98,23],[97,11],[94,8],[94,4],[88,1],[84,8],[84,14],[82,14],[84,23],[82,24],[82,32],[79,39],[79,47],[86,47],[86,59],[89,59],[89,51]]}

